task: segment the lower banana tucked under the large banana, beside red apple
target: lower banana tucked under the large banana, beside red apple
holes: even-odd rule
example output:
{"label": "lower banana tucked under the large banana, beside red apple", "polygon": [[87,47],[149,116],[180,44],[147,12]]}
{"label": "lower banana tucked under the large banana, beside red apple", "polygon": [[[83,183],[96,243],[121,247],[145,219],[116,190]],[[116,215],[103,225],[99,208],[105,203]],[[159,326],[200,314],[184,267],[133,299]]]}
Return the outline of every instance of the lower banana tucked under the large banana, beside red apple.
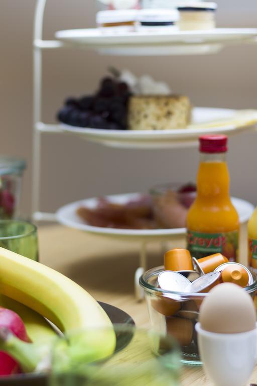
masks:
{"label": "lower banana tucked under the large banana, beside red apple", "polygon": [[0,296],[0,306],[16,312],[22,318],[32,342],[40,343],[56,338],[57,332],[50,323],[31,308],[4,295]]}

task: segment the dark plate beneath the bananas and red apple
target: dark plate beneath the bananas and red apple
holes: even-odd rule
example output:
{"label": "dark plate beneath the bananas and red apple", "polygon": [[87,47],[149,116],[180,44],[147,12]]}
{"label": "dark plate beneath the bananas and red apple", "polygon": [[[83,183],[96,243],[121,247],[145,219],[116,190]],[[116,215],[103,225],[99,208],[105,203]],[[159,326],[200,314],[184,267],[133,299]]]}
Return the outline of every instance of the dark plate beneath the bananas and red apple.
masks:
{"label": "dark plate beneath the bananas and red apple", "polygon": [[[103,310],[106,312],[113,324],[128,324],[135,326],[135,322],[132,317],[126,314],[124,311],[120,310],[117,307],[111,306],[106,303],[98,302]],[[115,351],[122,350],[127,346],[131,339],[132,334],[121,334],[117,335],[117,343]],[[13,376],[0,376],[0,385],[1,386],[47,386],[48,381],[47,377],[42,374],[21,374]]]}

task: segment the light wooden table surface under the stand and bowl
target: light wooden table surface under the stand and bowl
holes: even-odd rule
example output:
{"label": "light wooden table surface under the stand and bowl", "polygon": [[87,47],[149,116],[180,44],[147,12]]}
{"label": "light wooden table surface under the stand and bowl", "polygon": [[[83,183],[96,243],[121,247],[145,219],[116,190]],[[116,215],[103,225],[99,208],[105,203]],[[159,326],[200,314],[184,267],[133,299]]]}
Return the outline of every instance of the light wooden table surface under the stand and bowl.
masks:
{"label": "light wooden table surface under the stand and bowl", "polygon": [[[59,225],[39,228],[40,261],[84,287],[96,300],[130,314],[137,326],[149,325],[145,302],[137,303],[134,274],[139,266],[139,244],[92,236]],[[184,247],[184,239],[168,245]],[[148,245],[149,268],[162,265],[159,244]],[[257,383],[257,368],[251,381]],[[184,366],[183,386],[213,386],[200,366]],[[233,385],[231,385],[233,386]]]}

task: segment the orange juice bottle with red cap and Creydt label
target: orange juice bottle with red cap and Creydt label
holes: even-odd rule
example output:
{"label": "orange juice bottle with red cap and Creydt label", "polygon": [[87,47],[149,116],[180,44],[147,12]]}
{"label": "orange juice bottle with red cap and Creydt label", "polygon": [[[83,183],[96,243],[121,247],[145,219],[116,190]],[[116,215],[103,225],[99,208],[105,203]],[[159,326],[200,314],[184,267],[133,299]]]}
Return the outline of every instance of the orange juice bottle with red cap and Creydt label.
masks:
{"label": "orange juice bottle with red cap and Creydt label", "polygon": [[229,196],[227,137],[200,137],[197,197],[187,215],[187,244],[199,259],[222,253],[237,260],[239,218]]}

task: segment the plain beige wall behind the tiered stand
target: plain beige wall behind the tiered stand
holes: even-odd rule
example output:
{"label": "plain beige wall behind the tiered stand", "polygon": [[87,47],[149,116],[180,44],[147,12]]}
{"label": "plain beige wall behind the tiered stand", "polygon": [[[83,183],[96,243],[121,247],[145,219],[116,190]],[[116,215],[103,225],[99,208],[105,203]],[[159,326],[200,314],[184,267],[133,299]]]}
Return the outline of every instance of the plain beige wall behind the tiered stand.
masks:
{"label": "plain beige wall behind the tiered stand", "polygon": [[[22,156],[23,213],[31,208],[32,32],[35,0],[0,0],[0,153]],[[219,0],[219,26],[257,27],[256,0]],[[44,38],[60,29],[94,26],[94,0],[48,0]],[[109,65],[149,73],[195,106],[257,108],[257,45],[226,48],[218,55],[184,57],[108,57],[80,50],[44,53],[43,117],[55,114],[68,95],[93,91]],[[231,193],[257,204],[257,133],[229,141]],[[166,181],[194,181],[197,149],[119,150],[72,136],[45,134],[42,142],[41,210],[105,194],[144,191]]]}

